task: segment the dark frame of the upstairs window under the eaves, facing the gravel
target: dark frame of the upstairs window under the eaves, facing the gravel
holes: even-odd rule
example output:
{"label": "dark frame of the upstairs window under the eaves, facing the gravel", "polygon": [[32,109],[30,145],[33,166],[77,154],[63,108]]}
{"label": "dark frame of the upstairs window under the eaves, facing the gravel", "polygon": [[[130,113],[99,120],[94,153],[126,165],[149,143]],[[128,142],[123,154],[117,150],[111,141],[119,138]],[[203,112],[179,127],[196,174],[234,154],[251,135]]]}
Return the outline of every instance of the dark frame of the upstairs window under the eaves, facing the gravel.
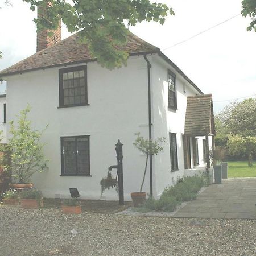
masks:
{"label": "dark frame of the upstairs window under the eaves, facing the gravel", "polygon": [[[85,88],[85,102],[80,103],[80,104],[75,104],[75,100],[74,100],[74,104],[64,105],[63,73],[82,71],[82,70],[84,71],[85,86],[77,86],[77,88]],[[81,92],[81,90],[80,90],[80,92]],[[84,95],[84,94],[82,94],[82,95]],[[70,96],[68,96],[68,97],[70,97]],[[80,97],[80,101],[81,101],[81,93],[79,94],[79,97]],[[75,95],[74,95],[74,98],[75,98]],[[87,65],[59,69],[59,107],[58,108],[68,108],[68,107],[72,107],[72,106],[87,106],[87,105],[89,105],[88,104]]]}

